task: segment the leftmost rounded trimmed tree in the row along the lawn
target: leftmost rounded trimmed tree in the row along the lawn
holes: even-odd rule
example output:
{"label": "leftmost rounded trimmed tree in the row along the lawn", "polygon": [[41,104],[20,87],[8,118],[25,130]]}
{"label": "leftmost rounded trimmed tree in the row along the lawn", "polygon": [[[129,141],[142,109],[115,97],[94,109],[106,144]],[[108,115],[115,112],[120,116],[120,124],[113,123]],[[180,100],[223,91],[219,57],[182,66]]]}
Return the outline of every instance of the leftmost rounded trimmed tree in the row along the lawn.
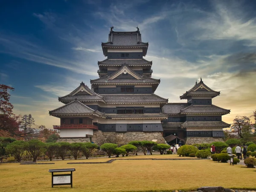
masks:
{"label": "leftmost rounded trimmed tree in the row along the lawn", "polygon": [[25,150],[26,143],[24,141],[14,141],[6,146],[6,152],[15,157],[17,162],[20,162]]}

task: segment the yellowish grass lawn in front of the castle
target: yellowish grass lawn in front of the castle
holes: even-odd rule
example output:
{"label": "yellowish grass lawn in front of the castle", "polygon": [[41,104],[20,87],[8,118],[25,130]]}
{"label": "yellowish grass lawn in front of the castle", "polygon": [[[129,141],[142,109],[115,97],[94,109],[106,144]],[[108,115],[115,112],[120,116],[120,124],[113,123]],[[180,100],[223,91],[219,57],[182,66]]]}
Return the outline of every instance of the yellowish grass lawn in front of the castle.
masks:
{"label": "yellowish grass lawn in front of the castle", "polygon": [[[178,158],[177,155],[139,155],[128,158]],[[120,157],[127,158],[127,157]],[[116,160],[110,164],[67,164],[103,162],[109,158],[53,161],[54,165],[0,164],[1,191],[121,192],[149,190],[195,190],[200,186],[255,189],[255,169],[211,160]],[[73,189],[51,188],[49,169],[76,168]]]}

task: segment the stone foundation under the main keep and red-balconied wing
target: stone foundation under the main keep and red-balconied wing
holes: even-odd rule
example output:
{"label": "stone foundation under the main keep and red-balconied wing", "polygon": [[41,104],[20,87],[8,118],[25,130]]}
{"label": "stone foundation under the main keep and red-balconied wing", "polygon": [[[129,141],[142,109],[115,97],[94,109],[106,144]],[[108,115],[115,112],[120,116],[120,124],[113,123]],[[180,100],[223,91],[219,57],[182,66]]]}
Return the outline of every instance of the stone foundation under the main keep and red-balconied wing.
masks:
{"label": "stone foundation under the main keep and red-balconied wing", "polygon": [[[116,143],[118,145],[125,145],[130,141],[152,141],[156,140],[157,143],[166,143],[160,132],[102,132],[93,131],[93,142],[97,145],[103,143]],[[85,143],[90,142],[90,138],[77,138],[68,139],[61,138],[57,142],[68,142],[68,143]]]}

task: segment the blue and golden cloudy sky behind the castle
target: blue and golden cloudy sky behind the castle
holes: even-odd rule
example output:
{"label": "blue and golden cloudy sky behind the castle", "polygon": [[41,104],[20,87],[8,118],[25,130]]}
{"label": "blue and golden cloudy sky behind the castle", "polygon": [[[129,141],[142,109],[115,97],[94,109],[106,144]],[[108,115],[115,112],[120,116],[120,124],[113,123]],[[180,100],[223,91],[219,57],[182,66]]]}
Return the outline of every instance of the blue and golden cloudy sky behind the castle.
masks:
{"label": "blue and golden cloudy sky behind the castle", "polygon": [[9,0],[0,1],[0,84],[15,88],[16,114],[37,125],[59,125],[49,110],[81,81],[99,78],[101,43],[114,31],[136,31],[148,42],[155,94],[169,102],[202,77],[230,109],[223,120],[256,110],[256,1],[254,0]]}

